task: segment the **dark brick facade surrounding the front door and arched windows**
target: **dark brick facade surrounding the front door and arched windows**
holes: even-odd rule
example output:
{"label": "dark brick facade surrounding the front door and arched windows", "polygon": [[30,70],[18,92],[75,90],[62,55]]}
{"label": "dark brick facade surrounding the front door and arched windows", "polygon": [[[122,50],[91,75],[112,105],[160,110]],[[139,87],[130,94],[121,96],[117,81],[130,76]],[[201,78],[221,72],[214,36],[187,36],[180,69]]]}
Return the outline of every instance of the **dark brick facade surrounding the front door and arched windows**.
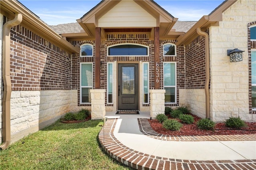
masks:
{"label": "dark brick facade surrounding the front door and arched windows", "polygon": [[[94,41],[71,41],[72,45],[82,45],[89,43],[94,45]],[[124,56],[114,56],[107,57],[107,47],[110,45],[118,45],[121,43],[136,43],[141,45],[149,46],[149,56],[146,57],[124,57]],[[164,43],[176,43],[174,40],[161,40],[160,41],[160,88],[163,89],[163,62],[174,61],[177,62],[177,102],[178,102],[178,89],[184,88],[185,86],[185,55],[184,47],[177,47],[176,57],[163,57],[162,47]],[[95,50],[95,49],[94,49]],[[95,52],[95,51],[94,51]],[[93,52],[93,53],[94,53]],[[101,72],[100,72],[100,86],[102,89],[107,89],[107,62],[111,61],[128,61],[128,62],[138,62],[145,61],[150,63],[150,89],[154,88],[154,41],[148,38],[146,34],[110,34],[107,35],[107,40],[101,42],[100,50],[100,61],[101,61]],[[72,56],[72,87],[78,89],[78,106],[90,106],[90,104],[80,104],[80,63],[81,62],[92,62],[94,63],[94,57],[80,57],[79,55]],[[95,70],[93,70],[95,72]],[[106,101],[107,102],[107,101]],[[108,106],[112,106],[111,104]],[[149,105],[144,105],[149,106]],[[169,104],[168,106],[176,106],[174,104]]]}

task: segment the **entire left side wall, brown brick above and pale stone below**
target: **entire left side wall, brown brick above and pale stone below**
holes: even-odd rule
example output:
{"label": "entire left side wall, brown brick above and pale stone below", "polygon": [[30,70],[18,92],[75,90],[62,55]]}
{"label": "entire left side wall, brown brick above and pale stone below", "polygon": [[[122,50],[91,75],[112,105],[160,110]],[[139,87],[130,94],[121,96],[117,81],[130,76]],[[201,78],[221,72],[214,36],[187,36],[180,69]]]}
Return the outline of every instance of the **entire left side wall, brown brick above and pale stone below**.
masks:
{"label": "entire left side wall, brown brick above and pale stone below", "polygon": [[70,53],[22,25],[12,27],[10,38],[14,142],[77,111],[77,90],[72,90]]}

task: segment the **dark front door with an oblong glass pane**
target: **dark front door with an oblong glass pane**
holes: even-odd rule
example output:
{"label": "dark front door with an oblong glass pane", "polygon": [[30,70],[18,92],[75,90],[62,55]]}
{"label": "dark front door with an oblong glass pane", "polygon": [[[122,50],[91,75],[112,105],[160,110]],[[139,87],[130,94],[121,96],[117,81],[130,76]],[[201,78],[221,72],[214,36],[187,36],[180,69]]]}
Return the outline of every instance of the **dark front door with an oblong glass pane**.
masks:
{"label": "dark front door with an oblong glass pane", "polygon": [[138,64],[118,64],[118,110],[138,110]]}

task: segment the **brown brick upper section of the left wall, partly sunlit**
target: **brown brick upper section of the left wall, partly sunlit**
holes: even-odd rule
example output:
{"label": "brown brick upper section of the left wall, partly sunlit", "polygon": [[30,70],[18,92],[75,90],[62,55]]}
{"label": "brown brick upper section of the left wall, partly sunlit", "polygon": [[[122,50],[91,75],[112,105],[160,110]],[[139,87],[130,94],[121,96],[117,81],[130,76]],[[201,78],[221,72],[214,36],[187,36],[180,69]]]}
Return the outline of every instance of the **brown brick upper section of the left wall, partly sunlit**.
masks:
{"label": "brown brick upper section of the left wall, partly sunlit", "polygon": [[71,54],[21,25],[11,29],[12,90],[71,89]]}

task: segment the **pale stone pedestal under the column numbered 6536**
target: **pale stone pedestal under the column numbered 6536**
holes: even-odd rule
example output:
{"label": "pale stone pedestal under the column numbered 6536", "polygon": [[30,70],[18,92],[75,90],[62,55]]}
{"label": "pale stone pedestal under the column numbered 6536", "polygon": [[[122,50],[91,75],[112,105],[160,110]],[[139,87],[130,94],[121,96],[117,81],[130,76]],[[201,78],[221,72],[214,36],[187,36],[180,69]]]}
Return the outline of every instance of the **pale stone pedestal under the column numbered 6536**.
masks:
{"label": "pale stone pedestal under the column numbered 6536", "polygon": [[158,114],[164,114],[164,94],[165,90],[150,90],[150,117],[156,117]]}

